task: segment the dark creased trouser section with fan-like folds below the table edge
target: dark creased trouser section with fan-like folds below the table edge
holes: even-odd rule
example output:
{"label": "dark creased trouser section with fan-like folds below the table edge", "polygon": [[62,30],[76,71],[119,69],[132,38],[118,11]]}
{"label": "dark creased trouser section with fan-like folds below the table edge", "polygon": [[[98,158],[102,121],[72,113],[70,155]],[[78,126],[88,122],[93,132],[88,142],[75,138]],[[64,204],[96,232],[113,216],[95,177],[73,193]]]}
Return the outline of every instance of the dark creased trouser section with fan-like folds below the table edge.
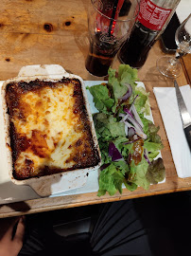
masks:
{"label": "dark creased trouser section with fan-like folds below the table edge", "polygon": [[92,233],[94,254],[152,255],[147,229],[143,226],[132,200],[105,205]]}

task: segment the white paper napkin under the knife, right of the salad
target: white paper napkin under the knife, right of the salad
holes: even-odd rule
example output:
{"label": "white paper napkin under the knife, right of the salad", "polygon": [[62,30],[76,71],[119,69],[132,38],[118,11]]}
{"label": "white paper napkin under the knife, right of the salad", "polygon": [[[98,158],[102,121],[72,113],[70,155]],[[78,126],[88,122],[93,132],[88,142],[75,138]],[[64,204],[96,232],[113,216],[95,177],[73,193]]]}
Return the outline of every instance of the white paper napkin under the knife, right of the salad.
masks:
{"label": "white paper napkin under the knife, right of the salad", "polygon": [[[190,85],[180,87],[183,100],[191,115],[191,88]],[[170,144],[177,174],[181,178],[191,177],[191,151],[182,129],[182,119],[174,87],[154,87],[162,118],[165,124],[165,132]]]}

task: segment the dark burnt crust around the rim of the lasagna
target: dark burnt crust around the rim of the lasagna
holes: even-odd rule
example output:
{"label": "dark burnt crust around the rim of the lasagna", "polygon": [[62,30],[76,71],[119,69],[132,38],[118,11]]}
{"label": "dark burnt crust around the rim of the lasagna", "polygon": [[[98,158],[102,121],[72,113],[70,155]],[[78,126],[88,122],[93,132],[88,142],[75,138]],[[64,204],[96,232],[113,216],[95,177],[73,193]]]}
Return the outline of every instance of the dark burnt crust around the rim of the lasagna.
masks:
{"label": "dark burnt crust around the rim of the lasagna", "polygon": [[[78,129],[82,130],[86,135],[87,140],[85,141],[83,147],[81,139],[71,145],[71,147],[75,147],[75,155],[71,155],[73,160],[76,164],[72,168],[61,169],[61,168],[50,168],[48,166],[44,166],[41,170],[41,173],[38,175],[30,175],[30,168],[31,168],[31,160],[26,159],[26,171],[24,174],[17,174],[14,168],[15,161],[18,155],[26,150],[27,147],[30,146],[30,141],[25,136],[20,136],[15,129],[14,123],[11,121],[13,117],[13,112],[15,108],[19,108],[20,106],[20,96],[22,94],[27,93],[28,91],[35,91],[41,90],[42,86],[54,88],[57,87],[58,82],[63,82],[64,85],[72,82],[75,84],[74,86],[74,95],[75,98],[75,106],[73,113],[79,113],[80,119],[83,123]],[[26,180],[33,177],[40,177],[44,175],[51,175],[51,174],[59,174],[62,172],[67,171],[75,171],[78,169],[85,169],[95,167],[100,162],[100,156],[98,154],[97,147],[95,145],[91,124],[88,118],[85,101],[83,98],[83,93],[81,89],[81,82],[78,79],[69,79],[69,78],[62,78],[61,81],[57,82],[47,82],[41,80],[34,80],[30,82],[9,82],[6,86],[6,103],[7,103],[7,113],[9,115],[9,137],[10,137],[10,148],[11,148],[11,155],[12,155],[12,174],[13,177],[17,180]],[[24,119],[25,117],[22,114],[22,109],[20,108],[19,119]],[[35,151],[35,149],[33,149]],[[39,151],[37,151],[39,152]],[[37,153],[36,152],[36,153]],[[88,154],[87,154],[88,153]],[[39,154],[41,155],[41,153]]]}

